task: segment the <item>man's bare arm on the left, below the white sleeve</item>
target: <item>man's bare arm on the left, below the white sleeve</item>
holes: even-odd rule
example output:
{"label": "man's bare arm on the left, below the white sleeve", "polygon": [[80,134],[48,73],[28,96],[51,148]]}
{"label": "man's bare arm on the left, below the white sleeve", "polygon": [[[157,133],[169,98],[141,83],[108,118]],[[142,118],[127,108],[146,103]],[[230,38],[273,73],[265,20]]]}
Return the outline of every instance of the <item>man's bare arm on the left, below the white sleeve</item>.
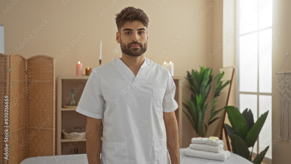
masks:
{"label": "man's bare arm on the left, below the white sleeve", "polygon": [[89,164],[100,164],[102,119],[87,117],[86,150]]}

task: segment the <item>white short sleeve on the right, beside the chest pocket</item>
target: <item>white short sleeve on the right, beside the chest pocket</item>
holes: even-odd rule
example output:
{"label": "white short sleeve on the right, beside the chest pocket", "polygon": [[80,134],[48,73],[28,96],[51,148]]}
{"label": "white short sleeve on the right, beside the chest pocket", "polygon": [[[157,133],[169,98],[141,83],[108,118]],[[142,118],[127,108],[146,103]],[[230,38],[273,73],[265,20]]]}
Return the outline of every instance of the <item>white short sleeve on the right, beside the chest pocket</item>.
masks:
{"label": "white short sleeve on the right, beside the chest pocket", "polygon": [[173,112],[178,108],[178,104],[174,99],[176,86],[168,70],[167,70],[167,73],[168,73],[168,81],[167,81],[166,91],[165,91],[165,95],[164,95],[164,99],[162,103],[163,112]]}

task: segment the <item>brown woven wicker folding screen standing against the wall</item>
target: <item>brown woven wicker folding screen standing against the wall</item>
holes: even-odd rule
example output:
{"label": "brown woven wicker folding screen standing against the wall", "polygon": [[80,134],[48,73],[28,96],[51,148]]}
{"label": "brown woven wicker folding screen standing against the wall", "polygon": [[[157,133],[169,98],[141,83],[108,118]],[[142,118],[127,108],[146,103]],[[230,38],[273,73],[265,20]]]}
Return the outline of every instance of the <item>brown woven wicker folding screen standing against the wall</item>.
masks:
{"label": "brown woven wicker folding screen standing against the wall", "polygon": [[[10,72],[7,75],[10,77],[7,83],[10,98],[9,164],[18,164],[24,158],[54,155],[55,70],[53,58],[39,55],[24,59],[19,54],[12,54],[9,57]],[[4,83],[2,85],[4,86]],[[1,121],[1,125],[4,124],[3,122]],[[3,159],[2,156],[3,154],[1,154],[1,159]]]}

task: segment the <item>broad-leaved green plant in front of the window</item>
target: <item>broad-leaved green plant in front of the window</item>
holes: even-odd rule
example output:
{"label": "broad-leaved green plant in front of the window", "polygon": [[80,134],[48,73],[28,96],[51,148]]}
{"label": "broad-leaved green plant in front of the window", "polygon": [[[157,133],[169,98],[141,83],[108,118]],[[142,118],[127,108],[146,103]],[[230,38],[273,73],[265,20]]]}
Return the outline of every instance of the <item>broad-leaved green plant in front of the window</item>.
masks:
{"label": "broad-leaved green plant in front of the window", "polygon": [[[258,139],[269,111],[262,114],[254,123],[251,110],[245,109],[244,112],[240,113],[239,110],[233,106],[226,106],[225,109],[232,127],[228,124],[224,124],[224,127],[231,139],[233,153],[252,161],[253,148],[250,154],[249,147],[253,147]],[[268,149],[269,146],[258,154],[252,162],[260,164]]]}

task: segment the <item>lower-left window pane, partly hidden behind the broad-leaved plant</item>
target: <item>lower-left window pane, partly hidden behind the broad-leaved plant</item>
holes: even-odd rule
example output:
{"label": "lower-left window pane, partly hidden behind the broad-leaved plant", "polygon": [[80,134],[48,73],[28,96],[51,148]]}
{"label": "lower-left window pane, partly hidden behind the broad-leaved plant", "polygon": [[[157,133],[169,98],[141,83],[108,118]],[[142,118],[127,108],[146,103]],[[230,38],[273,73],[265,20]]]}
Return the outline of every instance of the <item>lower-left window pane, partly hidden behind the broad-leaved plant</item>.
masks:
{"label": "lower-left window pane, partly hidden behind the broad-leaved plant", "polygon": [[[239,111],[242,113],[246,108],[251,109],[254,117],[254,122],[258,118],[258,101],[257,95],[239,94]],[[252,147],[249,147],[249,151],[252,151]],[[253,153],[257,153],[257,141],[255,142]]]}

